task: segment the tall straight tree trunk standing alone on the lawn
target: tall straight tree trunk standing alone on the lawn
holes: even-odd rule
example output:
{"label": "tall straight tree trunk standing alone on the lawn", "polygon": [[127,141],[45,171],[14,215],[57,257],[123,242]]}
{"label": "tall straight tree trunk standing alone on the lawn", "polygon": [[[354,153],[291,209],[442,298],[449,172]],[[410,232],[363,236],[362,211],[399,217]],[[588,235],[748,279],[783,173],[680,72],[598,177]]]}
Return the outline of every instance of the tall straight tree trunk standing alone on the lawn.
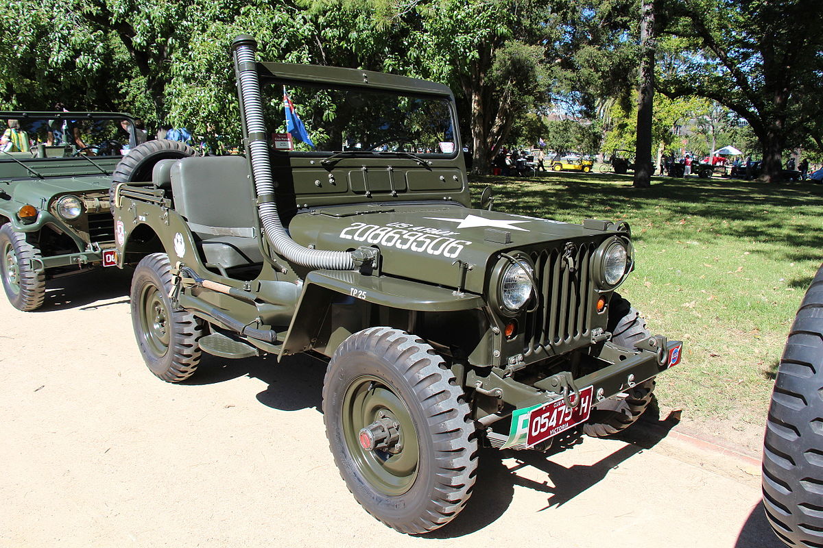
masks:
{"label": "tall straight tree trunk standing alone on the lawn", "polygon": [[635,187],[652,184],[652,110],[654,99],[654,2],[643,0],[640,7],[640,89],[637,99],[637,148]]}

